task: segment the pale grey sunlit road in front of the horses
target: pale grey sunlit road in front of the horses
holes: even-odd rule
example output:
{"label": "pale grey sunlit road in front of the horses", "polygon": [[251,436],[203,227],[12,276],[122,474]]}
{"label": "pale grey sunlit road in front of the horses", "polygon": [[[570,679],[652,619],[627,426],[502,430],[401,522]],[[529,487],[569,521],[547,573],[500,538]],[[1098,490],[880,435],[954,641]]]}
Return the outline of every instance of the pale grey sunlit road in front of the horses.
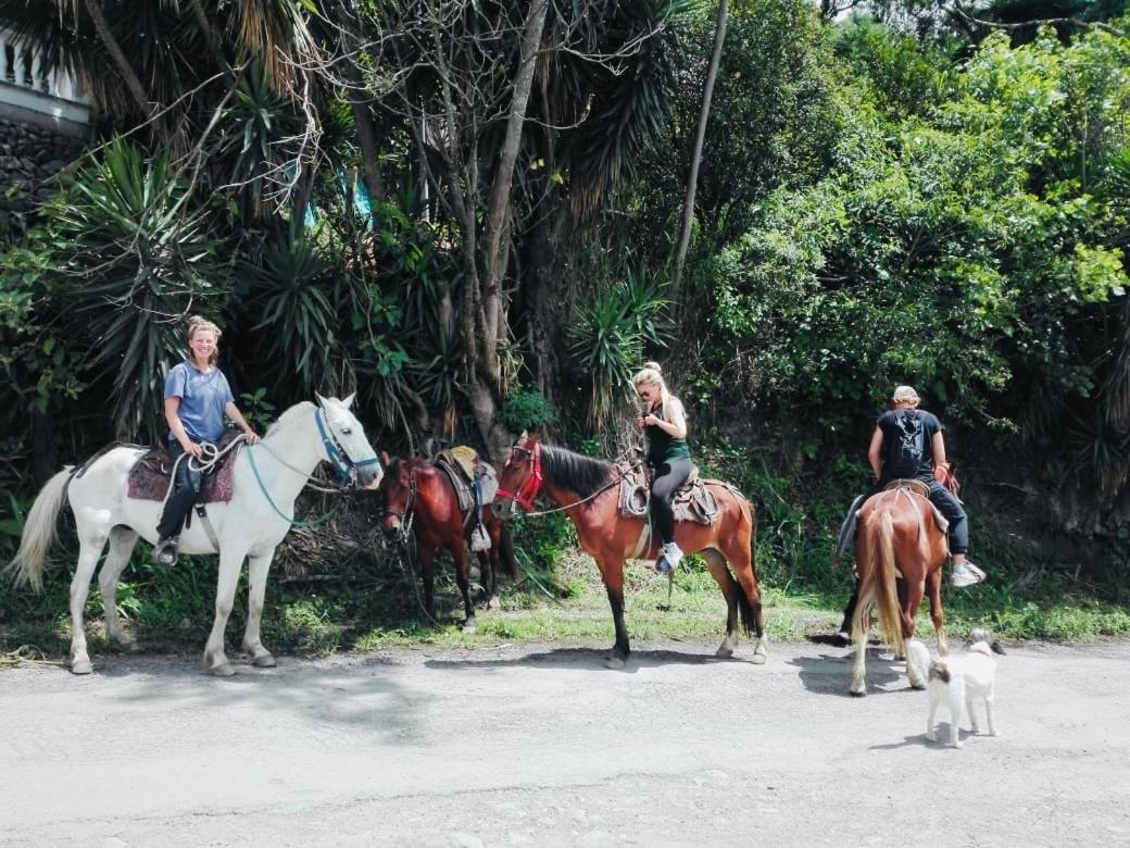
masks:
{"label": "pale grey sunlit road in front of the horses", "polygon": [[1124,642],[1011,649],[959,751],[875,651],[634,647],[0,673],[0,845],[1130,845]]}

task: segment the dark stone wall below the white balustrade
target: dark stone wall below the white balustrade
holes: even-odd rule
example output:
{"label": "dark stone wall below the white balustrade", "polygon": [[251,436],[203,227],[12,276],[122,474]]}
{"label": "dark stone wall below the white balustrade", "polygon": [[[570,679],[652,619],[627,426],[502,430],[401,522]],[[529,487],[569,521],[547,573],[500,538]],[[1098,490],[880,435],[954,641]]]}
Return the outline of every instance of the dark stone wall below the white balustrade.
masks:
{"label": "dark stone wall below the white balustrade", "polygon": [[0,119],[0,217],[25,217],[51,193],[47,178],[77,159],[81,139]]}

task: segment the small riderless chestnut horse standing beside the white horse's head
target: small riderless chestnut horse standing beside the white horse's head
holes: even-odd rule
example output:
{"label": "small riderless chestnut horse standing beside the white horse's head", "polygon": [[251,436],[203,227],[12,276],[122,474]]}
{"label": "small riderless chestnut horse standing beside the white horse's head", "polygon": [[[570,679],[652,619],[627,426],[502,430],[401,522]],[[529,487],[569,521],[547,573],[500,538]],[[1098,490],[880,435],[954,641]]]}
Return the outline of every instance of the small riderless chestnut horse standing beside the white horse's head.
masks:
{"label": "small riderless chestnut horse standing beside the white horse's head", "polygon": [[[381,526],[388,538],[416,540],[416,562],[424,580],[424,608],[435,618],[435,554],[447,551],[455,561],[455,582],[463,596],[463,630],[475,630],[468,579],[467,542],[476,522],[459,509],[459,496],[446,473],[427,459],[390,459],[381,453],[385,473],[377,492],[381,495]],[[498,607],[498,565],[506,565],[511,580],[518,579],[514,546],[503,522],[489,509],[483,510],[483,525],[490,536],[490,550],[479,552],[479,573],[487,594],[487,607]]]}

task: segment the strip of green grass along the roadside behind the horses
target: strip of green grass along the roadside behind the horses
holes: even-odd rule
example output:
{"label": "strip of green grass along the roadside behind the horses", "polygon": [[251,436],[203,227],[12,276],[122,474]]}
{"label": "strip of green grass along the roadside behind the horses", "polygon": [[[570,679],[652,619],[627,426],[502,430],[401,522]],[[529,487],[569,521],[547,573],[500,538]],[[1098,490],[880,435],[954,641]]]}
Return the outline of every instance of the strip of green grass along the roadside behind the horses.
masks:
{"label": "strip of green grass along the roadside behind the horses", "polygon": [[[733,461],[733,458],[729,458]],[[731,466],[733,467],[733,466]],[[834,571],[831,537],[840,493],[815,497],[784,478],[748,471],[747,491],[762,493],[758,576],[764,618],[771,639],[798,641],[833,633],[851,590],[850,573]],[[723,475],[719,475],[723,476]],[[1003,639],[1081,641],[1130,634],[1130,597],[1120,550],[1085,552],[1085,568],[1074,559],[1080,551],[1020,531],[1002,512],[971,510],[976,557],[989,570],[988,582],[944,594],[948,632],[960,637],[974,626],[990,626]],[[1000,529],[997,529],[997,528]],[[437,624],[425,621],[418,581],[395,560],[379,552],[336,563],[330,574],[287,578],[276,571],[268,586],[263,640],[271,650],[298,656],[338,651],[373,651],[431,644],[475,648],[499,642],[611,644],[612,621],[596,565],[576,547],[576,537],[560,516],[525,519],[514,526],[523,569],[518,586],[507,586],[498,612],[479,611],[478,631],[463,633],[462,604],[450,560],[436,568]],[[59,563],[72,562],[64,542]],[[1097,553],[1096,553],[1097,551]],[[982,556],[984,559],[982,559]],[[215,557],[186,557],[174,569],[155,568],[139,546],[119,589],[119,613],[149,652],[195,655],[211,628],[216,591]],[[721,640],[725,606],[701,560],[692,559],[668,583],[653,571],[629,564],[625,572],[628,633],[634,640]],[[46,574],[45,591],[0,587],[0,654],[34,644],[66,658],[70,640],[69,571]],[[228,644],[237,646],[246,620],[246,578],[241,580],[228,628]],[[90,648],[113,654],[99,638],[102,599],[92,587],[86,606]],[[927,612],[920,628],[932,633]]]}

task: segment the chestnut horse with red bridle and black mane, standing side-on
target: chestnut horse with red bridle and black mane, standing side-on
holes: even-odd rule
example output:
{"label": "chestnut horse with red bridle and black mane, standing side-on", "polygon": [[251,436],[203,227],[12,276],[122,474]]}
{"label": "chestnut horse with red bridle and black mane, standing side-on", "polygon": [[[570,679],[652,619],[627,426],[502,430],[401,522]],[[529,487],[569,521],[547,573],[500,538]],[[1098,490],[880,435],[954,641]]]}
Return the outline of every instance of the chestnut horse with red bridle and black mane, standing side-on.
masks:
{"label": "chestnut horse with red bridle and black mane, standing side-on", "polygon": [[[688,554],[703,554],[725,597],[725,639],[716,656],[733,655],[740,611],[742,629],[757,637],[753,661],[759,665],[765,661],[766,639],[754,568],[754,508],[727,486],[711,483],[706,486],[718,501],[719,517],[709,527],[678,522],[675,540]],[[511,449],[499,475],[495,511],[510,518],[514,501],[532,511],[533,499],[542,490],[570,517],[581,547],[597,561],[616,624],[616,643],[606,665],[623,668],[631,652],[624,626],[624,561],[657,559],[659,539],[652,537],[646,517],[620,513],[620,471],[616,466],[563,448],[542,445],[536,436],[523,435]]]}

